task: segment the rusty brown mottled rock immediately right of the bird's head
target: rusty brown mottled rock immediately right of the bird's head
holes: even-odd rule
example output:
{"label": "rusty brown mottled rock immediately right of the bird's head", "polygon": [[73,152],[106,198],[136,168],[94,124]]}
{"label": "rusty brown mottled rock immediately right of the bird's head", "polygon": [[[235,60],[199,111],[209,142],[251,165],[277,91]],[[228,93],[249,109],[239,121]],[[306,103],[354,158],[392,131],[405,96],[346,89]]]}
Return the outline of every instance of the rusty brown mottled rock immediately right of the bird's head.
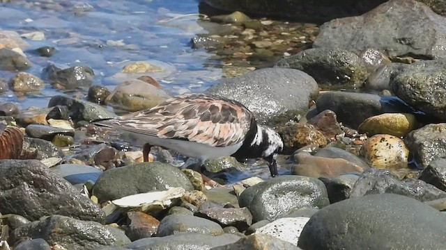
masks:
{"label": "rusty brown mottled rock immediately right of the bird's head", "polygon": [[305,147],[309,144],[325,147],[327,138],[316,130],[311,124],[293,124],[288,126],[279,126],[276,128],[277,133],[284,142],[283,153],[293,153],[296,149]]}

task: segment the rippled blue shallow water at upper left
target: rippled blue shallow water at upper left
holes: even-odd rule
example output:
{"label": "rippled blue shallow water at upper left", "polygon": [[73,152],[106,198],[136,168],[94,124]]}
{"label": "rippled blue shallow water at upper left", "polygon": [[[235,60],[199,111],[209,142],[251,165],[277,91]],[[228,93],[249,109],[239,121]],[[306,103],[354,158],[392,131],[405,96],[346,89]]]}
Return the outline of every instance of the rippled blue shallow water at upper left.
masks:
{"label": "rippled blue shallow water at upper left", "polygon": [[[194,0],[13,1],[1,6],[1,29],[45,33],[41,41],[26,39],[30,47],[24,52],[34,64],[27,72],[36,76],[42,76],[49,63],[65,67],[84,64],[93,68],[95,84],[113,89],[119,82],[115,74],[125,63],[144,60],[166,69],[151,76],[167,92],[183,94],[202,92],[222,75],[220,62],[210,63],[210,54],[190,48],[190,39],[196,34],[219,26],[200,20]],[[51,58],[33,52],[43,46],[56,47],[59,52]],[[0,71],[0,78],[14,75]],[[47,85],[38,95],[17,98],[8,92],[1,101],[18,102],[22,109],[45,107],[50,97],[61,93]]]}

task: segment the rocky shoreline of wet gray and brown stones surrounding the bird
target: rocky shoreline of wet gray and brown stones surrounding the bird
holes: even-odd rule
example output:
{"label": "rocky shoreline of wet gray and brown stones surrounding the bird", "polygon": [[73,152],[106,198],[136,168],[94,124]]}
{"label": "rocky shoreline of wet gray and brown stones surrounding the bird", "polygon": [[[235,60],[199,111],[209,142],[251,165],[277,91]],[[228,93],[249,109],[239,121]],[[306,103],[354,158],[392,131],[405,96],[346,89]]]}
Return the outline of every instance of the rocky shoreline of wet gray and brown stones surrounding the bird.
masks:
{"label": "rocky shoreline of wet gray and brown stones surrounding the bird", "polygon": [[217,188],[194,159],[153,147],[142,163],[141,149],[91,124],[171,97],[166,67],[127,63],[112,90],[88,65],[40,77],[26,72],[26,40],[0,31],[0,70],[14,74],[0,90],[59,93],[45,108],[0,102],[0,250],[443,249],[446,17],[436,12],[391,0],[320,27],[240,12],[206,20],[231,31],[191,38],[226,64],[205,93],[240,101],[284,141],[275,178],[262,160],[208,160],[201,172]]}

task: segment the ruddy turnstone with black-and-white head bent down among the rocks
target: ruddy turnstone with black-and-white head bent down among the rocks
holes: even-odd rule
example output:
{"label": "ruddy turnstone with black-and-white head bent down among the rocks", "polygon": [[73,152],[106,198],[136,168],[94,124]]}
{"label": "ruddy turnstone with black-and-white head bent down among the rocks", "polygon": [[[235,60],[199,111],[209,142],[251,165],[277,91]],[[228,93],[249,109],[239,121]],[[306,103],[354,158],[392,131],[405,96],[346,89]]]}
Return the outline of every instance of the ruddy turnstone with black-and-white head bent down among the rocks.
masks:
{"label": "ruddy turnstone with black-and-white head bent down among the rocks", "polygon": [[257,124],[243,104],[205,94],[185,94],[148,110],[94,124],[115,128],[123,140],[142,146],[144,161],[148,161],[150,147],[156,145],[202,162],[222,156],[263,158],[271,176],[276,176],[276,156],[284,147],[280,136]]}

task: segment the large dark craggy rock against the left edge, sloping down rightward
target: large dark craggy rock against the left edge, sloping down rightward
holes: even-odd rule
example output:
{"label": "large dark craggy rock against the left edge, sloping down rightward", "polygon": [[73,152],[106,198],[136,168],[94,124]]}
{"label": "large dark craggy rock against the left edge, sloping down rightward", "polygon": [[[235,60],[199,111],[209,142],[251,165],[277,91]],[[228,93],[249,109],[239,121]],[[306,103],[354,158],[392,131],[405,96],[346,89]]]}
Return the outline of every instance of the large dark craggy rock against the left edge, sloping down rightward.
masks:
{"label": "large dark craggy rock against the left edge, sloping down rightward", "polygon": [[38,160],[0,160],[0,213],[36,220],[66,215],[101,221],[104,213],[70,183]]}

